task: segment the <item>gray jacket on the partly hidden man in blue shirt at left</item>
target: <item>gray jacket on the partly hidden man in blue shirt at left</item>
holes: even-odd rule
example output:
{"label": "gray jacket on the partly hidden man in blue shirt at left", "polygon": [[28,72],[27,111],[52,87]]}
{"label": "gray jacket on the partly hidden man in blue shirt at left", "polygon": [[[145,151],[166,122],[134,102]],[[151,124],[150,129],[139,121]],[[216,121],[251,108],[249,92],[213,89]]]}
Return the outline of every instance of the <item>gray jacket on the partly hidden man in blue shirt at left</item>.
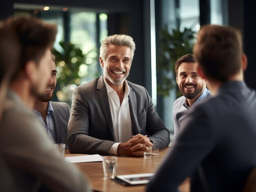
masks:
{"label": "gray jacket on the partly hidden man in blue shirt at left", "polygon": [[67,124],[70,118],[70,107],[67,103],[51,102],[53,108],[53,121],[57,143],[65,143],[67,149]]}

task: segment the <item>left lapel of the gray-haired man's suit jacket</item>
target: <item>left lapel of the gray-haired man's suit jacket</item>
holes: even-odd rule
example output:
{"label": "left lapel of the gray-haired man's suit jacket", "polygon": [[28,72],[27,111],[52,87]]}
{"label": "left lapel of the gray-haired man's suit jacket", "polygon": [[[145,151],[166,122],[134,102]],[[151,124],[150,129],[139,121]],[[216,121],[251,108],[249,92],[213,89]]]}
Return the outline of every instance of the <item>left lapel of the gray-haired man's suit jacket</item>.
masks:
{"label": "left lapel of the gray-haired man's suit jacket", "polygon": [[103,76],[101,76],[98,80],[97,90],[99,90],[97,92],[97,95],[98,95],[99,101],[101,103],[101,108],[103,110],[103,114],[104,114],[105,119],[108,123],[108,127],[109,127],[111,135],[112,135],[112,139],[113,139],[113,141],[115,141],[115,139],[114,139],[115,134],[114,134],[114,128],[113,128],[113,123],[112,123],[112,116],[111,116],[111,111],[110,111],[110,105],[109,105],[109,102],[108,102],[108,92],[107,92],[105,82],[103,80]]}

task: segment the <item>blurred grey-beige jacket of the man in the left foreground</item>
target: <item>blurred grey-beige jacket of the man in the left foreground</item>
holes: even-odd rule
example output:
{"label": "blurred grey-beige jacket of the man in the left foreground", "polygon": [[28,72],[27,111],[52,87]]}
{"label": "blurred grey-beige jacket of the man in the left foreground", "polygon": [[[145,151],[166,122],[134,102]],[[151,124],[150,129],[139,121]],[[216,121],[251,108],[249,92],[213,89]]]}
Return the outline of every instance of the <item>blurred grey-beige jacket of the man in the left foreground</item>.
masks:
{"label": "blurred grey-beige jacket of the man in the left foreground", "polygon": [[0,154],[18,189],[90,191],[83,174],[56,152],[33,110],[12,91],[6,105],[0,122]]}

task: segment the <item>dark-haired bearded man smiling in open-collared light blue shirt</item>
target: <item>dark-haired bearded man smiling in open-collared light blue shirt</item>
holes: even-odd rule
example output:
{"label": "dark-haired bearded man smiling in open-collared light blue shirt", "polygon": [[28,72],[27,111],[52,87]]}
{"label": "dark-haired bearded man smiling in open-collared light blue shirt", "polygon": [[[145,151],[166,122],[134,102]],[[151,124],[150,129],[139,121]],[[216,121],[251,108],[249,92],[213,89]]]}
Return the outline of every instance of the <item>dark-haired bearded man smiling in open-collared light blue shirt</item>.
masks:
{"label": "dark-haired bearded man smiling in open-collared light blue shirt", "polygon": [[187,54],[180,57],[175,64],[176,81],[182,97],[173,104],[174,138],[176,139],[182,129],[182,121],[192,105],[209,97],[211,92],[206,88],[206,81],[198,75],[198,63],[195,56]]}

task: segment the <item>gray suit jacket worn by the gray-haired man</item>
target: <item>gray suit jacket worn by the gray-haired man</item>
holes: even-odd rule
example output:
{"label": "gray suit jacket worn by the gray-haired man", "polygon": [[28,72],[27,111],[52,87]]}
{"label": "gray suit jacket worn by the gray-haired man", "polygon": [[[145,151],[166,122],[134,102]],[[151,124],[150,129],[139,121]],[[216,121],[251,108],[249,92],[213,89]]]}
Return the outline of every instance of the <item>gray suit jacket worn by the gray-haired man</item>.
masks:
{"label": "gray suit jacket worn by the gray-haired man", "polygon": [[[142,86],[128,82],[132,134],[148,135],[159,148],[168,146],[170,135]],[[108,155],[115,143],[108,93],[103,76],[75,88],[68,123],[71,153]]]}

